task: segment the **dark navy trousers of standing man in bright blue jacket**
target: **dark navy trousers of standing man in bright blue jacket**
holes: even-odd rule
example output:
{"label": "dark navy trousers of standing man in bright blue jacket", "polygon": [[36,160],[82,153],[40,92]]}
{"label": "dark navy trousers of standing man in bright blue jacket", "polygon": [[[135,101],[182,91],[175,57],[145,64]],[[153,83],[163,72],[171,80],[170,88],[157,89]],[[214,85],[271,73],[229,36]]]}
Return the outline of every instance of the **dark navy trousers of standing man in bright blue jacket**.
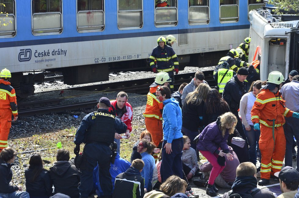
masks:
{"label": "dark navy trousers of standing man in bright blue jacket", "polygon": [[183,164],[182,164],[182,154],[183,154],[183,138],[178,138],[172,140],[170,154],[166,153],[164,149],[166,140],[163,140],[162,144],[162,163],[161,163],[161,180],[164,182],[171,175],[177,175],[181,179],[183,179]]}

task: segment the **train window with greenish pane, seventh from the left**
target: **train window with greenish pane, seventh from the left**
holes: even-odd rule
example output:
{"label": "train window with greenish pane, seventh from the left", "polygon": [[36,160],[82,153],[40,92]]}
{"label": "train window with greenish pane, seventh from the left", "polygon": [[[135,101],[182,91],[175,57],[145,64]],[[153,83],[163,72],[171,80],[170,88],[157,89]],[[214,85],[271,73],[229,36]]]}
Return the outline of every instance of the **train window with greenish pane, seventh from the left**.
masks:
{"label": "train window with greenish pane, seventh from the left", "polygon": [[238,0],[220,0],[219,1],[220,23],[232,23],[239,20],[239,2]]}

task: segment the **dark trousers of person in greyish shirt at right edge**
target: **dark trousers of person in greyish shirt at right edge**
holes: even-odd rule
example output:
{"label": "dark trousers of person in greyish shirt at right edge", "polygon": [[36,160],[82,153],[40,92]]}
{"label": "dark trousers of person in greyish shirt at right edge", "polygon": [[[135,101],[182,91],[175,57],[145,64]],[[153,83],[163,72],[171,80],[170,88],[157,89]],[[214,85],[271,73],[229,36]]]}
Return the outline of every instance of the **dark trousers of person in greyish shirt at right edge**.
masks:
{"label": "dark trousers of person in greyish shirt at right edge", "polygon": [[[286,136],[286,155],[285,166],[292,167],[292,145],[293,136],[295,136],[297,149],[299,148],[299,122],[297,118],[286,118],[286,123],[283,125],[284,134]],[[298,151],[297,151],[298,152]],[[296,159],[296,170],[299,171],[299,157]]]}

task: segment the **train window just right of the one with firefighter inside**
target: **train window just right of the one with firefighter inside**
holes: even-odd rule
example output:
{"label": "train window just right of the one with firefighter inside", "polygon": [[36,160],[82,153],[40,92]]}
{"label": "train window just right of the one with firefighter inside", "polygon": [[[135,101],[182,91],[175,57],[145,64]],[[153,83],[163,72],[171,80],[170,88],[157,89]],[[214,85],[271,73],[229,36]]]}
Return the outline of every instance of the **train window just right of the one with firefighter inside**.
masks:
{"label": "train window just right of the one with firefighter inside", "polygon": [[210,21],[209,0],[190,0],[189,1],[189,23],[206,24]]}

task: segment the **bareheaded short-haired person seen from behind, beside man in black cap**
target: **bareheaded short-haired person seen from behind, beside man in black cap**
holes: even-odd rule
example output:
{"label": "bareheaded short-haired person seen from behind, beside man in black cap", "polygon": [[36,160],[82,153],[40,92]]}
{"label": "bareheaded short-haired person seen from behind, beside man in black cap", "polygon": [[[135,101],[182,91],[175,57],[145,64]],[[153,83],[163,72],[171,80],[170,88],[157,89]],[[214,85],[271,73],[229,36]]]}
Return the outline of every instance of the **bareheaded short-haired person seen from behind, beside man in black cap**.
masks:
{"label": "bareheaded short-haired person seen from behind, beside man in black cap", "polygon": [[231,190],[222,198],[275,198],[267,189],[257,188],[257,168],[251,162],[243,162],[236,170],[236,180]]}

